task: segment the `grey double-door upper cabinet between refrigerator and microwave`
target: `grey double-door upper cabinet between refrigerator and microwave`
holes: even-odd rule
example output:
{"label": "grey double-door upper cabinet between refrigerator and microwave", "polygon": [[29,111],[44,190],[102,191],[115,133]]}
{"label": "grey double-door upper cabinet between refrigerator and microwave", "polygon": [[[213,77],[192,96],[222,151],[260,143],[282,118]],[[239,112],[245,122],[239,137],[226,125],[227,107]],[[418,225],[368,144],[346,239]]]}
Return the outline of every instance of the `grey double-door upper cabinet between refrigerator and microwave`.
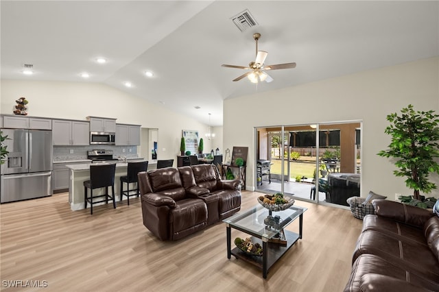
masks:
{"label": "grey double-door upper cabinet between refrigerator and microwave", "polygon": [[86,121],[53,120],[54,145],[89,145],[90,123]]}

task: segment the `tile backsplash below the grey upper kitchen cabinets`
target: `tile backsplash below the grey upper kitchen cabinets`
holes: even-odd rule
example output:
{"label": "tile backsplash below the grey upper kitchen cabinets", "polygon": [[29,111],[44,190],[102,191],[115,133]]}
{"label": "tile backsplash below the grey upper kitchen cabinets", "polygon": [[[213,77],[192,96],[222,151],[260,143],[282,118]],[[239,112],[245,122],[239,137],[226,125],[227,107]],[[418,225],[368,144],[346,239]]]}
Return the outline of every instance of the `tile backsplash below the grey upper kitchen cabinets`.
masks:
{"label": "tile backsplash below the grey upper kitchen cabinets", "polygon": [[[113,151],[113,157],[126,156],[137,158],[137,146],[54,146],[54,161],[87,159],[87,151],[93,149],[106,149]],[[73,153],[71,153],[73,152]]]}

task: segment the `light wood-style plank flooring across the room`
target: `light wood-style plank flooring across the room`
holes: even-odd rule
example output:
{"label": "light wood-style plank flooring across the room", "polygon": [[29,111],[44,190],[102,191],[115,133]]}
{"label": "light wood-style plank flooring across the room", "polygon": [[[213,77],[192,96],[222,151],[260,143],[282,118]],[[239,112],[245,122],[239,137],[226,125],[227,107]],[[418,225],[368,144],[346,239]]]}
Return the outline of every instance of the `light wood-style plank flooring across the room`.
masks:
{"label": "light wood-style plank flooring across the room", "polygon": [[[243,191],[241,210],[257,204]],[[226,255],[226,226],[176,242],[142,223],[140,199],[71,211],[68,194],[0,205],[1,291],[342,291],[362,221],[348,210],[307,207],[303,239],[268,272]],[[298,220],[288,228],[298,232]],[[232,240],[246,234],[232,230]],[[47,281],[12,289],[5,280]]]}

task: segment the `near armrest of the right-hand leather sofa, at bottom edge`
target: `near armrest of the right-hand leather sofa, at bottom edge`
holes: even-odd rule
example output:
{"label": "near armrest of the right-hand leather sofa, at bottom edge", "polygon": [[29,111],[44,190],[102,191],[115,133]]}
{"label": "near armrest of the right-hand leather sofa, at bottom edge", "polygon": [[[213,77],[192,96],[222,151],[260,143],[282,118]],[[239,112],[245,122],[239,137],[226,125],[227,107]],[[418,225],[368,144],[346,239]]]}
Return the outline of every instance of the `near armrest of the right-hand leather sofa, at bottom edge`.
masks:
{"label": "near armrest of the right-hand leather sofa, at bottom edge", "polygon": [[431,290],[416,286],[405,280],[400,280],[385,275],[379,275],[378,273],[366,273],[364,276],[361,277],[359,284],[360,290],[364,292],[431,292]]}

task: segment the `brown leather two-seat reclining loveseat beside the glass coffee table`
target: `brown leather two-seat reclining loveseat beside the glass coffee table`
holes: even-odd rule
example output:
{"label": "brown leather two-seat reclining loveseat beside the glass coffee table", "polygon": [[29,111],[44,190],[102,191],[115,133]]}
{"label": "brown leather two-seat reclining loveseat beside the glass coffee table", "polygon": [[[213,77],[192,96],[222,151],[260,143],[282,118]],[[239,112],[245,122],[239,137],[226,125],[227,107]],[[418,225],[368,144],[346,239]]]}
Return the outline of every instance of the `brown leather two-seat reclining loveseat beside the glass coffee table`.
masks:
{"label": "brown leather two-seat reclining loveseat beside the glass coffee table", "polygon": [[143,225],[159,239],[178,240],[241,209],[239,180],[221,180],[215,165],[139,173]]}

